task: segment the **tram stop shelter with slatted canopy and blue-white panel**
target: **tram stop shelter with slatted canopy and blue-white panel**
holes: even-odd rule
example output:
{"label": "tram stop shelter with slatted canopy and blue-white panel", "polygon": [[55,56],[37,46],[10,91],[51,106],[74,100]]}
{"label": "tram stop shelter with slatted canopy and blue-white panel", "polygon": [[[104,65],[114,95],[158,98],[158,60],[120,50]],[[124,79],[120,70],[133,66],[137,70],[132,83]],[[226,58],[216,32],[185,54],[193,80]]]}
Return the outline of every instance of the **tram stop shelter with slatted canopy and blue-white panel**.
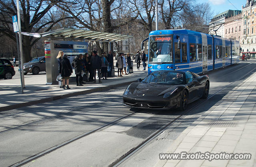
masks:
{"label": "tram stop shelter with slatted canopy and blue-white panel", "polygon": [[[126,38],[133,37],[129,35],[113,34],[108,32],[96,32],[72,28],[61,28],[58,30],[44,32],[40,34],[26,32],[22,32],[22,34],[48,38],[48,40],[45,41],[47,80],[46,84],[57,83],[56,78],[59,74],[59,71],[58,60],[56,59],[56,56],[58,55],[59,51],[63,51],[64,54],[67,54],[70,62],[72,62],[74,56],[78,56],[79,54],[85,54],[86,52],[88,52],[88,42],[90,41],[108,42],[108,48],[110,50],[111,42],[118,42]],[[87,42],[78,42],[78,40]],[[74,74],[75,73],[73,72],[72,75]]]}

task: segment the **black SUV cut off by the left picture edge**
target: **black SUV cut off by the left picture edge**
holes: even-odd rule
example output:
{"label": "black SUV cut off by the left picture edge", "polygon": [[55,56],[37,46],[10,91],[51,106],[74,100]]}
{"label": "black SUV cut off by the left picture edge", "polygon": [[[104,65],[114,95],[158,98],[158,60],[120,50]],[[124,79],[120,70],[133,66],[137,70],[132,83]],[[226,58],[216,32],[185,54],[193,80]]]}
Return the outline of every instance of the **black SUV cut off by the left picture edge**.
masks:
{"label": "black SUV cut off by the left picture edge", "polygon": [[7,59],[0,59],[0,79],[12,79],[15,75],[12,63]]}

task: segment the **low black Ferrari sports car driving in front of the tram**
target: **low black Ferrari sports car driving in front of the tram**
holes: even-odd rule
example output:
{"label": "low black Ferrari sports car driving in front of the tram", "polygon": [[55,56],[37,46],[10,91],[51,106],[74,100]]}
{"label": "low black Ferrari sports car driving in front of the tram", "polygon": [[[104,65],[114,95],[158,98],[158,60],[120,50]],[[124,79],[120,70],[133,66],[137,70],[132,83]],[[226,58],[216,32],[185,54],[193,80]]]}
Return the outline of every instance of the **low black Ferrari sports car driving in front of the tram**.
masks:
{"label": "low black Ferrari sports car driving in front of the tram", "polygon": [[209,77],[193,72],[156,71],[144,80],[131,83],[123,94],[123,104],[147,109],[186,109],[188,103],[207,98]]}

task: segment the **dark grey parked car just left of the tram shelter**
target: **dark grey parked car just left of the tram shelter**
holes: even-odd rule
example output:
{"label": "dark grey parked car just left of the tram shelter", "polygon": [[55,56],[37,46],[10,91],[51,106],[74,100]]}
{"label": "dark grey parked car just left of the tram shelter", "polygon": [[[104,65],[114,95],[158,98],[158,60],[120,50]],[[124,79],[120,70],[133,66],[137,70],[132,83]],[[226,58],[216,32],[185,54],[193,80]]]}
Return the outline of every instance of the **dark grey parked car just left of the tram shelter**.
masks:
{"label": "dark grey parked car just left of the tram shelter", "polygon": [[39,74],[39,72],[46,71],[45,57],[41,56],[38,58],[34,58],[27,63],[24,63],[23,70],[25,75],[28,74],[28,72],[32,72],[32,74],[36,75],[36,74]]}

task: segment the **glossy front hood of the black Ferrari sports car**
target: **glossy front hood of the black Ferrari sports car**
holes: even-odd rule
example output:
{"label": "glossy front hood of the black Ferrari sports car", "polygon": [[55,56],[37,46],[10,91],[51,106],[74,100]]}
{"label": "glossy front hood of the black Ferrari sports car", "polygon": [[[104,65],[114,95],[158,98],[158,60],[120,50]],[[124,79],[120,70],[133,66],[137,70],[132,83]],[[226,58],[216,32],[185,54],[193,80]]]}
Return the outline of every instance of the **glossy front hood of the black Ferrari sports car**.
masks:
{"label": "glossy front hood of the black Ferrari sports car", "polygon": [[143,97],[152,97],[158,95],[164,95],[168,91],[176,89],[178,85],[165,85],[157,83],[132,83],[128,89],[132,95],[143,96]]}

